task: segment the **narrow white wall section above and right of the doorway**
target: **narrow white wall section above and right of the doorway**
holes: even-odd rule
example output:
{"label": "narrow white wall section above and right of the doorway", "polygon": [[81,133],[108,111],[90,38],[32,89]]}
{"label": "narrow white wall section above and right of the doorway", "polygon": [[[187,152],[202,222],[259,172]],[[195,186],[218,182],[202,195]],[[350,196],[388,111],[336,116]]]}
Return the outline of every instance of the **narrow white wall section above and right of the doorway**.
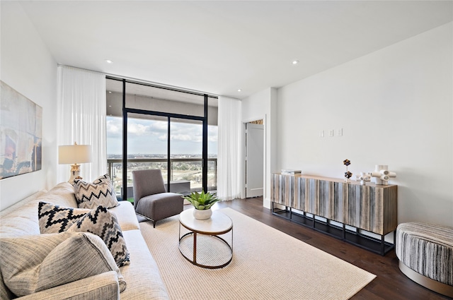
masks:
{"label": "narrow white wall section above and right of the doorway", "polygon": [[[270,174],[277,172],[277,90],[268,88],[242,100],[242,121],[264,120],[265,170],[263,205],[270,208]],[[245,176],[245,174],[244,174]],[[245,197],[245,192],[242,198]]]}

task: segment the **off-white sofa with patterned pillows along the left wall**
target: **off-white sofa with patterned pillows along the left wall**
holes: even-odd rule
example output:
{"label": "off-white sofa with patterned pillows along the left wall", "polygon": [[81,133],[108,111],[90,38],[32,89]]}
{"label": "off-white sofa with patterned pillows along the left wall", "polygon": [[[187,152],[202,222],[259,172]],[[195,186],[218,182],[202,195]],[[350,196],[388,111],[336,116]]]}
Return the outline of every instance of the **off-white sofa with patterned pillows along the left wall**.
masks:
{"label": "off-white sofa with patterned pillows along the left wall", "polygon": [[[47,202],[77,208],[74,188],[64,182],[50,191],[41,191],[0,212],[0,238],[40,234],[38,203]],[[130,253],[130,265],[120,267],[126,289],[120,293],[117,272],[103,272],[81,280],[35,292],[18,299],[168,299],[159,269],[140,232],[133,206],[128,201],[110,208],[115,213]],[[8,253],[1,253],[8,256]],[[16,296],[0,277],[0,299]]]}

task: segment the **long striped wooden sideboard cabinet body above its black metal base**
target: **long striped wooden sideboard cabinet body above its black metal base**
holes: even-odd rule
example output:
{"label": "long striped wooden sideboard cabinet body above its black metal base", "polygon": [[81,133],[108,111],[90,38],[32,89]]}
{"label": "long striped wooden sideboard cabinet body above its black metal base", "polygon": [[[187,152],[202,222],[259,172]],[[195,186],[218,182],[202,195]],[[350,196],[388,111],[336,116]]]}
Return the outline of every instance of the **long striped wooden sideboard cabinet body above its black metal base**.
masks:
{"label": "long striped wooden sideboard cabinet body above its black metal base", "polygon": [[396,185],[362,186],[357,181],[276,173],[272,175],[270,199],[383,236],[398,225],[397,191]]}

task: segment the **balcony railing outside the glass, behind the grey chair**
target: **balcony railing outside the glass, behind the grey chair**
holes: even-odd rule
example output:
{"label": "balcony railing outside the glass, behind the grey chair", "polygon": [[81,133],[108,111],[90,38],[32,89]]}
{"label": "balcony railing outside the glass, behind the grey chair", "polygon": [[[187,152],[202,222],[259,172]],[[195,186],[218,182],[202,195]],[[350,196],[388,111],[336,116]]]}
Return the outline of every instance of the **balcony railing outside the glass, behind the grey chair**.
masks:
{"label": "balcony railing outside the glass, behind the grey chair", "polygon": [[[108,174],[113,181],[117,198],[122,198],[122,159],[108,159]],[[127,160],[127,198],[132,198],[132,171],[161,169],[164,183],[170,173],[170,191],[190,193],[202,190],[202,159],[171,158],[167,168],[166,158],[133,158]],[[168,170],[168,171],[167,171]],[[217,190],[217,158],[207,160],[207,189]]]}

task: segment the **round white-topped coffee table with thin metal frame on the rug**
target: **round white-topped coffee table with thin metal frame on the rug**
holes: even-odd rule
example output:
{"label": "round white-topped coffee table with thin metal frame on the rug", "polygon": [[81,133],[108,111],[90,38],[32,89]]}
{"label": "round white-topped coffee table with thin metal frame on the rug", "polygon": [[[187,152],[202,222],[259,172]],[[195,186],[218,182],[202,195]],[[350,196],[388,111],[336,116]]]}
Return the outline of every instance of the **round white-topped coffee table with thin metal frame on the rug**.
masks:
{"label": "round white-topped coffee table with thin metal frame on the rug", "polygon": [[[181,227],[188,232],[181,232]],[[231,243],[227,236],[231,236]],[[218,210],[207,220],[195,219],[193,209],[184,210],[179,215],[179,251],[199,267],[223,268],[233,259],[233,221]]]}

